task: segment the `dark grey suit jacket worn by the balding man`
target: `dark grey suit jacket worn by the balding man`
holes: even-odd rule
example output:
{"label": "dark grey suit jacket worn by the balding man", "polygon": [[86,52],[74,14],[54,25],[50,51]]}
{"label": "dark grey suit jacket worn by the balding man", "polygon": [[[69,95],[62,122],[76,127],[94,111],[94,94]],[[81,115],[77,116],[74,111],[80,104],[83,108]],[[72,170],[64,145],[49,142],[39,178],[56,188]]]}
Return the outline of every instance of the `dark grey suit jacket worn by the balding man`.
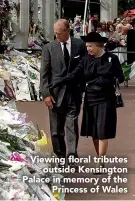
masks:
{"label": "dark grey suit jacket worn by the balding man", "polygon": [[[55,107],[60,107],[66,91],[66,86],[57,87],[53,91],[50,91],[48,85],[58,82],[68,73],[71,73],[85,54],[87,54],[85,43],[81,39],[71,38],[71,56],[69,67],[67,69],[61,44],[54,40],[44,46],[40,70],[40,90],[43,98],[51,95],[54,97],[56,101],[56,104],[54,105]],[[72,85],[71,91],[73,92],[76,101],[80,104],[80,86]]]}

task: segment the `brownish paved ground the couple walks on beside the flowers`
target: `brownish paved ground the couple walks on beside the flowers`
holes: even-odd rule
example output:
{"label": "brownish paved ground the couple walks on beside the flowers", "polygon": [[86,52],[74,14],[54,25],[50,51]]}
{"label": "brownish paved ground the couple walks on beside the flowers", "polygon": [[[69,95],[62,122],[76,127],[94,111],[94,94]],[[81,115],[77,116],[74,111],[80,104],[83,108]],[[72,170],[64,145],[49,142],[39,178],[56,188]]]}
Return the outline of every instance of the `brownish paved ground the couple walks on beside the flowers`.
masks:
{"label": "brownish paved ground the couple walks on beside the flowers", "polygon": [[[118,109],[117,137],[109,141],[108,156],[128,157],[128,193],[86,193],[67,194],[66,200],[135,200],[135,81],[130,82],[128,88],[121,87],[125,107]],[[49,136],[48,110],[42,102],[18,102],[17,108],[20,112],[27,114],[27,120],[37,123]],[[81,115],[79,124],[81,123]],[[94,156],[94,148],[91,138],[80,137],[78,152],[80,157]],[[81,177],[80,174],[72,175]],[[124,175],[123,175],[124,176]],[[83,174],[82,177],[104,177]],[[125,175],[126,177],[126,175]],[[72,184],[68,187],[85,188],[93,187],[92,184]],[[113,187],[113,185],[112,185]]]}

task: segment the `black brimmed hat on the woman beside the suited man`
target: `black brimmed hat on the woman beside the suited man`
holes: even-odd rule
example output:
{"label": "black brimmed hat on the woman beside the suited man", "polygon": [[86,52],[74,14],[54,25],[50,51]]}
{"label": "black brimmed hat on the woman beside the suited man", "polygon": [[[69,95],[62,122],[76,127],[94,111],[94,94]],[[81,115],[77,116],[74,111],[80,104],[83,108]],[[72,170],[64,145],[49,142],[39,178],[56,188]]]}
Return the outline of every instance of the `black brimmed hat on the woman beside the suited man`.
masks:
{"label": "black brimmed hat on the woman beside the suited man", "polygon": [[90,32],[87,36],[81,36],[81,39],[86,43],[107,43],[108,39],[106,37],[102,37],[97,32]]}

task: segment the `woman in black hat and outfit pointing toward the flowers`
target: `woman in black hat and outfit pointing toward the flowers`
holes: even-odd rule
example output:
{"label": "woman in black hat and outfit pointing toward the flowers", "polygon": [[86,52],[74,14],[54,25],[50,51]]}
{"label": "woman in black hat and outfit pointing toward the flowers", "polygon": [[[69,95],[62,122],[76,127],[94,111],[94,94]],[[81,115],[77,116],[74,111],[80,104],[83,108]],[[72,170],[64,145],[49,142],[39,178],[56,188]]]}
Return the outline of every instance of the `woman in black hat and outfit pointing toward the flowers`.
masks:
{"label": "woman in black hat and outfit pointing toward the flowers", "polygon": [[[105,52],[106,38],[91,32],[82,38],[86,42],[88,55],[84,56],[76,69],[54,83],[81,84],[85,92],[81,136],[91,136],[98,157],[106,155],[108,140],[116,136],[116,79],[124,82],[124,75],[116,55]],[[103,165],[103,164],[100,164]]]}

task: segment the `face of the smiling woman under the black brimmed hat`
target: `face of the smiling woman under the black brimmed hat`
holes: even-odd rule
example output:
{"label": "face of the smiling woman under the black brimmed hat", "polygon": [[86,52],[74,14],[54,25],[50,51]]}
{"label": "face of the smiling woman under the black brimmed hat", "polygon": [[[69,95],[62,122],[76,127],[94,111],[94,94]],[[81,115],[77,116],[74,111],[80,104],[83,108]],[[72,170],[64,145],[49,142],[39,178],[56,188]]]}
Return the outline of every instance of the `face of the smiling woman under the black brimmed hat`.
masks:
{"label": "face of the smiling woman under the black brimmed hat", "polygon": [[97,56],[98,53],[101,51],[101,47],[97,46],[96,43],[86,43],[88,54]]}

